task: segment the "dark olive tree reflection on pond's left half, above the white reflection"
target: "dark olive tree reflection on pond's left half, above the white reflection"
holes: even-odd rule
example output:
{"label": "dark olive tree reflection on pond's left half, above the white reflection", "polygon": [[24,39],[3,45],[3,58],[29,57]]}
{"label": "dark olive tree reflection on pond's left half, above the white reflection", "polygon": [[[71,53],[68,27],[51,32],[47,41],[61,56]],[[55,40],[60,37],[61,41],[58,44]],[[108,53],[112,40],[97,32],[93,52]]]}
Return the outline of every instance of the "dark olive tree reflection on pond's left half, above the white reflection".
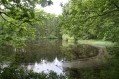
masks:
{"label": "dark olive tree reflection on pond's left half, above the white reflection", "polygon": [[24,51],[20,48],[16,52],[10,46],[0,48],[0,61],[10,61],[15,63],[35,63],[41,60],[52,62],[56,57],[62,60],[61,41],[58,40],[40,40],[35,44],[28,44]]}

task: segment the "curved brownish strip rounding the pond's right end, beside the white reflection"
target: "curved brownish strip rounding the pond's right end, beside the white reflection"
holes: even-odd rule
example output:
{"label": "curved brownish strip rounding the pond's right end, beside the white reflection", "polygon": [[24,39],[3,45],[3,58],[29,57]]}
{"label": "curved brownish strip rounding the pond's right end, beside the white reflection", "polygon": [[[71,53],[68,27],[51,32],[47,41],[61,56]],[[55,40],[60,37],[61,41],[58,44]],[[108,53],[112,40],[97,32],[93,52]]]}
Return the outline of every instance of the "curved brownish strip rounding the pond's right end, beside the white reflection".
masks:
{"label": "curved brownish strip rounding the pond's right end, beside the white reflection", "polygon": [[[107,58],[108,58],[108,53],[106,51],[106,48],[97,48],[98,53],[96,56],[93,57],[86,57],[83,59],[77,59],[77,60],[71,60],[69,62],[63,63],[63,67],[68,67],[68,68],[87,68],[87,67],[99,67],[102,66],[103,64],[106,64]],[[90,51],[88,51],[90,53]],[[77,56],[76,56],[77,57]],[[76,58],[75,57],[75,58]]]}

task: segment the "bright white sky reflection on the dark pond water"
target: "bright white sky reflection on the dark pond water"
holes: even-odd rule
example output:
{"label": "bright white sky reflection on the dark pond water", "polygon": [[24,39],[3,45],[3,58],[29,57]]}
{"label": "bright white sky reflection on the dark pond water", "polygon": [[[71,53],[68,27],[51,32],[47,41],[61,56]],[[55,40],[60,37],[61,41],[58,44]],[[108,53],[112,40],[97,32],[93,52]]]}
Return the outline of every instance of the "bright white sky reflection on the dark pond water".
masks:
{"label": "bright white sky reflection on the dark pond water", "polygon": [[38,73],[54,71],[58,74],[63,74],[62,61],[59,61],[57,58],[55,58],[53,62],[42,60],[40,63],[36,62],[34,65],[28,65],[27,68]]}

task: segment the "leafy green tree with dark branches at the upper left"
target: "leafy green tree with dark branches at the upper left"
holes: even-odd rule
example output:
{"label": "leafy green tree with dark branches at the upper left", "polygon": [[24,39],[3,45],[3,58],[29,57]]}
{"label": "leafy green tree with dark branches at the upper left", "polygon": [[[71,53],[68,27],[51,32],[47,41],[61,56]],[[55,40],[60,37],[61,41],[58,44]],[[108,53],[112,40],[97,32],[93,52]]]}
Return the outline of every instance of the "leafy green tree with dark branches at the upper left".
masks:
{"label": "leafy green tree with dark branches at the upper left", "polygon": [[[35,36],[35,6],[45,7],[51,0],[1,0],[0,44],[20,46]],[[42,19],[40,20],[42,21]]]}

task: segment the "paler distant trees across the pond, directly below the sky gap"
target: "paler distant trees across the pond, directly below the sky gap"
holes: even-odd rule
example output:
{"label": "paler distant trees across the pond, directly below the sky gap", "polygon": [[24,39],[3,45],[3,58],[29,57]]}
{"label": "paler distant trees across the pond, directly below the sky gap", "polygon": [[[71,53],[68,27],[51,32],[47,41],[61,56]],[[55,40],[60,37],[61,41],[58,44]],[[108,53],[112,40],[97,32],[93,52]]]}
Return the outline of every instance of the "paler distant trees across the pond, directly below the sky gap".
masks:
{"label": "paler distant trees across the pond, directly below the sky gap", "polygon": [[[41,20],[42,21],[39,21]],[[44,11],[36,12],[35,28],[36,37],[39,38],[59,38],[61,36],[59,27],[59,17]]]}

